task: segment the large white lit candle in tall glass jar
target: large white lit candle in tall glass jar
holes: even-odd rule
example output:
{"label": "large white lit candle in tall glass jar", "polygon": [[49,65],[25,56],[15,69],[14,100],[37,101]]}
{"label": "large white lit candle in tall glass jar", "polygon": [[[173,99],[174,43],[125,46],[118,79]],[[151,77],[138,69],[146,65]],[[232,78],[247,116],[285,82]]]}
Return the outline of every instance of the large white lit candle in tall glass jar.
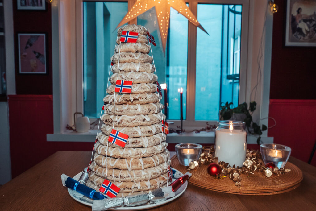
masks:
{"label": "large white lit candle in tall glass jar", "polygon": [[240,121],[218,121],[215,130],[215,157],[230,166],[243,166],[246,160],[247,132]]}

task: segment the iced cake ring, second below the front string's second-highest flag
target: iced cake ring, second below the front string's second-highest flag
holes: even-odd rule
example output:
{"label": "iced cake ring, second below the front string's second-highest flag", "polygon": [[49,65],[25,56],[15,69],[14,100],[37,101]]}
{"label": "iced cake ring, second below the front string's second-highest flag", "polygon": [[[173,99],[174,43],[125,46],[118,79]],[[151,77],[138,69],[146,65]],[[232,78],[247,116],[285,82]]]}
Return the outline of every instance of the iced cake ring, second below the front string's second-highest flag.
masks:
{"label": "iced cake ring, second below the front string's second-highest flag", "polygon": [[[139,115],[156,114],[161,112],[163,105],[159,103],[136,104],[136,105],[115,105],[115,115]],[[104,113],[113,114],[114,105],[106,104]]]}

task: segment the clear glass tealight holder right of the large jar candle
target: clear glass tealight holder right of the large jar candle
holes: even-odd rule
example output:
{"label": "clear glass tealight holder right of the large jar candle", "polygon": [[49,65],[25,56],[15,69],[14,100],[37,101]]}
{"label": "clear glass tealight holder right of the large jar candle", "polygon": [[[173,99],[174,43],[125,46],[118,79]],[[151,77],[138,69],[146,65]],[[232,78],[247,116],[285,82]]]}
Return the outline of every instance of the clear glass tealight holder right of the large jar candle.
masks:
{"label": "clear glass tealight holder right of the large jar candle", "polygon": [[288,162],[291,148],[282,144],[261,144],[260,152],[264,165],[267,163],[273,163],[278,168],[283,168]]}

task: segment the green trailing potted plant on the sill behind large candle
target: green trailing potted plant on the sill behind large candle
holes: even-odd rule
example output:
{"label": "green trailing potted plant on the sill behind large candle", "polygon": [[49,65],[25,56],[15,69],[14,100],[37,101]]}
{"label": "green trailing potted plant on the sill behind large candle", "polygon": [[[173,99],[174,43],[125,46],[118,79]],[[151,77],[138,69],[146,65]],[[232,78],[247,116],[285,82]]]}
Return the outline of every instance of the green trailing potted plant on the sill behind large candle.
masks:
{"label": "green trailing potted plant on the sill behind large candle", "polygon": [[249,134],[259,135],[257,139],[257,143],[259,145],[262,131],[267,130],[267,126],[262,124],[262,127],[260,127],[260,125],[252,121],[251,114],[256,110],[257,103],[255,101],[250,102],[249,108],[246,102],[239,104],[237,107],[231,108],[233,105],[234,104],[232,102],[221,104],[220,120],[239,120],[245,122]]}

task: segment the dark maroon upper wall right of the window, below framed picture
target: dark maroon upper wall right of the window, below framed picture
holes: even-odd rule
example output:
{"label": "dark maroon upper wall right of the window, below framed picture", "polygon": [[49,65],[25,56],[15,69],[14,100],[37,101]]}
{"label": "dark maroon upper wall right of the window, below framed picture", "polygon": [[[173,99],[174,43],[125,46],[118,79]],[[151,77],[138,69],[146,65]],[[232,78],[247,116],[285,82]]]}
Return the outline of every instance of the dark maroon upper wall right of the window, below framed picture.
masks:
{"label": "dark maroon upper wall right of the window, below framed picture", "polygon": [[316,99],[316,47],[285,47],[286,0],[275,0],[270,99]]}

